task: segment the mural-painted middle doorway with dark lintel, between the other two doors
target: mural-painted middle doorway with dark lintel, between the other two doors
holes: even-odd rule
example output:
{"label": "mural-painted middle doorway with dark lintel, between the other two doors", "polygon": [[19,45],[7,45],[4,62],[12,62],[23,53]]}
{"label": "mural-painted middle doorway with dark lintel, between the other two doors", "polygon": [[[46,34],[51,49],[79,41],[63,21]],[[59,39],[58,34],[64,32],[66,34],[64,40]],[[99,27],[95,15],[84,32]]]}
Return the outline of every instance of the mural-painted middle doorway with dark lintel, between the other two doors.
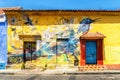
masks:
{"label": "mural-painted middle doorway with dark lintel, between the other two doors", "polygon": [[66,64],[69,62],[68,52],[69,52],[69,43],[68,38],[57,38],[57,52],[56,52],[56,63],[57,64]]}

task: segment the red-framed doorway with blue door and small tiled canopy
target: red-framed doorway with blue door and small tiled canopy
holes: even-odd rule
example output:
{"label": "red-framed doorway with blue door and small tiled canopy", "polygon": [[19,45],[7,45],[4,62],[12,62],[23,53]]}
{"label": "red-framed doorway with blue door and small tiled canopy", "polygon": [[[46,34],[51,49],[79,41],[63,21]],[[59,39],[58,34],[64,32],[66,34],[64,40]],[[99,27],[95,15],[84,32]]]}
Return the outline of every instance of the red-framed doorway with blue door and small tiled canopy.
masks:
{"label": "red-framed doorway with blue door and small tiled canopy", "polygon": [[103,65],[105,36],[99,32],[80,36],[80,65]]}

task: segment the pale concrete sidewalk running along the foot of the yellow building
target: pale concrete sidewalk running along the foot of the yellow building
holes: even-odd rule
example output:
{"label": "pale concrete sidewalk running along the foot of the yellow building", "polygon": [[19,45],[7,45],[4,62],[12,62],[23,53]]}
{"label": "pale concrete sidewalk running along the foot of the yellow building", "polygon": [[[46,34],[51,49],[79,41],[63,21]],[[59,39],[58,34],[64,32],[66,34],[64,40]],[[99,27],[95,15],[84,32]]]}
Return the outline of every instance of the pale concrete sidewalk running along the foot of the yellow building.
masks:
{"label": "pale concrete sidewalk running along the foot of the yellow building", "polygon": [[0,74],[7,75],[79,75],[79,74],[120,74],[120,70],[103,70],[103,71],[79,71],[78,68],[56,68],[56,69],[34,69],[34,70],[0,70]]}

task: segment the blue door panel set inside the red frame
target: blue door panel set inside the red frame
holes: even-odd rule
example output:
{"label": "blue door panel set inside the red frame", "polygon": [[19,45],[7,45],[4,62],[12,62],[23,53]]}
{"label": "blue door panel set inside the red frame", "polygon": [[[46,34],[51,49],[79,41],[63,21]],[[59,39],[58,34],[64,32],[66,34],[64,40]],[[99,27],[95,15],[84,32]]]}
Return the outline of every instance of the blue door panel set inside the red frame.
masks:
{"label": "blue door panel set inside the red frame", "polygon": [[86,64],[97,64],[96,41],[86,41]]}

